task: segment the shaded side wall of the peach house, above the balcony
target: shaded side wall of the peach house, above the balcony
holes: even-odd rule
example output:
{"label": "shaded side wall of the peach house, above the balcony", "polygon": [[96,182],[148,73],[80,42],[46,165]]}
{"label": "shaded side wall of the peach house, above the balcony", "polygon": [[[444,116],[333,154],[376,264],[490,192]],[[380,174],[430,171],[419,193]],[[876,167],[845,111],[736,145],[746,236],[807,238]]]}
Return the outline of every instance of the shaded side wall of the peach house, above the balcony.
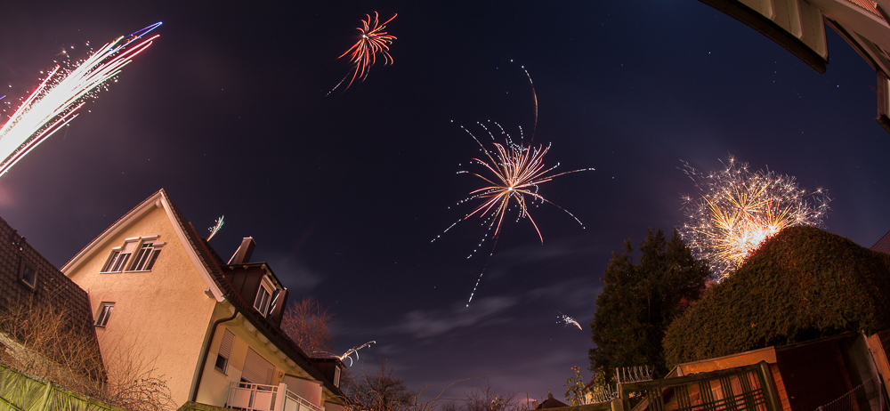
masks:
{"label": "shaded side wall of the peach house, above the balcony", "polygon": [[[228,307],[227,304],[225,306]],[[214,318],[212,321],[215,321],[218,318],[231,317],[232,311],[223,307],[223,304],[219,304],[217,309],[214,310]],[[220,342],[223,340],[223,333],[226,329],[235,335],[235,341],[232,345],[229,365],[226,369],[226,373],[223,374],[217,370],[214,365],[216,356],[219,353]],[[291,365],[290,363],[293,361],[288,361],[287,356],[282,351],[275,349],[274,346],[265,339],[263,334],[256,331],[255,327],[251,326],[250,323],[239,314],[237,318],[220,323],[220,325],[216,327],[213,341],[210,343],[210,351],[207,355],[206,366],[204,367],[204,372],[201,377],[201,384],[200,387],[198,387],[197,401],[199,403],[209,404],[216,407],[223,407],[225,405],[229,396],[231,383],[240,382],[248,347],[254,349],[256,353],[263,356],[263,359],[268,360],[275,366],[275,373],[272,375],[272,385],[282,383],[285,375],[294,375],[298,378],[314,381],[314,378],[312,378],[308,372],[297,367],[295,363],[294,365]],[[311,393],[308,392],[298,392],[298,390],[295,390],[295,387],[288,388],[290,391],[294,391],[305,399],[312,399],[320,398],[322,395],[320,384],[318,384],[317,387],[319,392],[312,393],[314,394],[313,396],[309,396]],[[323,403],[319,405],[323,406]]]}

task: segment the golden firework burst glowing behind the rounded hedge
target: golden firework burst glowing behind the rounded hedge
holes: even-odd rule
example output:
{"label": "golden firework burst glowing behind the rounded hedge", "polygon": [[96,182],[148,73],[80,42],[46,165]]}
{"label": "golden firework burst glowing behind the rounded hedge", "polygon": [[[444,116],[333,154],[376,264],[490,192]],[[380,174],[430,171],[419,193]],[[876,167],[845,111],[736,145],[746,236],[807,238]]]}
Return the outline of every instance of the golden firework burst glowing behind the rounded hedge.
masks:
{"label": "golden firework burst glowing behind the rounded hedge", "polygon": [[723,164],[724,170],[704,174],[684,162],[701,197],[684,197],[687,222],[680,230],[696,258],[708,260],[717,281],[782,229],[822,227],[831,200],[823,189],[807,193],[794,177],[768,169],[751,172],[732,156]]}

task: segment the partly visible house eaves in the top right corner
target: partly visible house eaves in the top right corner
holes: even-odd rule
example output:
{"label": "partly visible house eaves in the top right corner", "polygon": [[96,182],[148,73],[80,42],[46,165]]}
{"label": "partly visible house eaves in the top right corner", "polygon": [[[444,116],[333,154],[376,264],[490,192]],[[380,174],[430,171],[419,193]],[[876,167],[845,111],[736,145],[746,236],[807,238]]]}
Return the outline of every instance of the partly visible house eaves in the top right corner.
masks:
{"label": "partly visible house eaves in the top right corner", "polygon": [[819,73],[829,62],[825,25],[878,74],[878,117],[890,132],[890,0],[700,0],[792,52]]}

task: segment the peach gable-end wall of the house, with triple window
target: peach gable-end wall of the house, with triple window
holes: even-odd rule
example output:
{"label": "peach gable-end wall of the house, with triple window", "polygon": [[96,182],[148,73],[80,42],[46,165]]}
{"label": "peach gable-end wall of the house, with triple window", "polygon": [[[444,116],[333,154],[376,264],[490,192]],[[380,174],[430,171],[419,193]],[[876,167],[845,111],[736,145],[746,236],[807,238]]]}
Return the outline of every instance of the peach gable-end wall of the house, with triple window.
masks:
{"label": "peach gable-end wall of the house, with triple window", "polygon": [[[166,243],[151,271],[100,272],[111,248],[151,235]],[[187,401],[216,301],[205,294],[206,281],[163,206],[152,206],[97,245],[68,275],[89,291],[93,316],[101,302],[115,303],[108,325],[96,327],[109,374],[121,361],[142,361],[155,368],[153,375],[166,377],[177,405]]]}

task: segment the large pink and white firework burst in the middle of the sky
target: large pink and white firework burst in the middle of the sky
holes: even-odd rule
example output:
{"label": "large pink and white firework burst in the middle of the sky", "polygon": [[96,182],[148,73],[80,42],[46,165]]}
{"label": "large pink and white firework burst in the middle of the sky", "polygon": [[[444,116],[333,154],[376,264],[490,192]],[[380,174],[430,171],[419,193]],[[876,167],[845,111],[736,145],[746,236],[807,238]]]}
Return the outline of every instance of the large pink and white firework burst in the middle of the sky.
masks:
{"label": "large pink and white firework burst in the middle of the sky", "polygon": [[[531,217],[531,214],[529,214],[529,205],[531,203],[534,203],[536,200],[542,204],[555,204],[538,194],[539,185],[546,181],[551,181],[554,178],[564,174],[578,173],[581,171],[594,169],[583,168],[564,173],[551,173],[554,171],[554,169],[556,169],[556,167],[559,166],[559,163],[549,168],[547,168],[544,164],[544,156],[550,149],[549,145],[545,148],[543,146],[534,147],[531,145],[523,145],[522,143],[514,142],[513,139],[510,137],[510,134],[504,131],[504,127],[499,125],[497,122],[491,123],[498,127],[500,133],[504,136],[505,139],[504,144],[493,142],[493,150],[486,149],[482,142],[479,141],[479,139],[476,138],[473,133],[471,133],[465,127],[461,126],[461,129],[470,134],[470,136],[473,138],[473,141],[476,141],[476,143],[479,144],[481,151],[485,154],[484,157],[473,158],[473,163],[481,165],[492,175],[486,177],[481,175],[480,173],[472,173],[468,171],[458,172],[471,173],[476,177],[479,177],[482,181],[488,183],[488,185],[482,187],[481,189],[475,189],[471,191],[469,197],[466,197],[464,200],[457,203],[458,205],[460,205],[475,199],[483,200],[481,205],[476,207],[471,213],[466,214],[457,222],[451,224],[448,229],[442,232],[442,234],[448,232],[448,230],[451,230],[455,225],[457,225],[458,222],[465,221],[473,215],[477,215],[483,220],[482,224],[488,226],[489,232],[491,230],[494,230],[494,233],[491,234],[491,238],[493,238],[494,245],[496,246],[498,235],[501,232],[501,225],[504,222],[504,217],[506,216],[507,211],[510,210],[510,206],[515,203],[519,212],[516,220],[518,221],[522,218],[528,218],[531,222],[531,225],[538,233],[538,238],[543,244],[544,237],[541,235],[541,231],[538,229],[538,224]],[[485,132],[489,134],[492,141],[496,140],[494,133],[491,133],[489,127],[486,127],[481,123],[477,124],[480,125],[482,129],[484,129]],[[520,133],[522,136],[522,127],[520,127]],[[571,214],[568,210],[560,207],[559,205],[555,206],[564,211],[566,214],[569,214],[573,219],[575,219],[576,222],[578,222],[578,224],[581,225],[582,228],[584,227],[581,221],[578,220],[578,217],[575,217],[574,214]],[[485,242],[486,238],[489,237],[489,232],[482,236],[481,241],[476,246],[476,249],[474,249],[473,253],[468,255],[466,258],[472,257],[473,254],[479,251],[479,248]],[[441,235],[439,237],[441,237]],[[435,238],[433,238],[433,241],[435,241]],[[491,250],[492,251],[489,254],[489,257],[494,254],[494,246],[492,246]],[[473,295],[476,294],[476,288],[478,288],[484,272],[485,269],[483,268],[482,272],[479,274],[479,278],[476,279],[476,285],[473,286],[473,292],[470,294],[470,299],[467,301],[467,306],[469,306],[470,302],[473,302]]]}

